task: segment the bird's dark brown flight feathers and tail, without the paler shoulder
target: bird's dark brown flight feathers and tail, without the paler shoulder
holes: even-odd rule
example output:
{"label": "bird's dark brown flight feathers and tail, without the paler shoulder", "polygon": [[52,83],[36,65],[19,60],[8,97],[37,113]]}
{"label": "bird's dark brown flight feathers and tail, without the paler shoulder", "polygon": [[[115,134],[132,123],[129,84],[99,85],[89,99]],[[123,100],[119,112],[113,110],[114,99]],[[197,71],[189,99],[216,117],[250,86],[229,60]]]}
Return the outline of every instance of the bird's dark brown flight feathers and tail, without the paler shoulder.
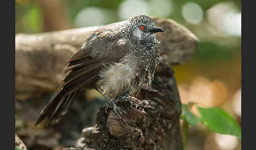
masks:
{"label": "bird's dark brown flight feathers and tail, without the paler shoulder", "polygon": [[46,119],[46,124],[58,122],[70,109],[77,93],[82,87],[92,87],[99,80],[99,71],[102,68],[101,59],[86,56],[70,61],[65,68],[69,71],[64,78],[64,83],[53,95],[50,102],[42,110],[35,125]]}

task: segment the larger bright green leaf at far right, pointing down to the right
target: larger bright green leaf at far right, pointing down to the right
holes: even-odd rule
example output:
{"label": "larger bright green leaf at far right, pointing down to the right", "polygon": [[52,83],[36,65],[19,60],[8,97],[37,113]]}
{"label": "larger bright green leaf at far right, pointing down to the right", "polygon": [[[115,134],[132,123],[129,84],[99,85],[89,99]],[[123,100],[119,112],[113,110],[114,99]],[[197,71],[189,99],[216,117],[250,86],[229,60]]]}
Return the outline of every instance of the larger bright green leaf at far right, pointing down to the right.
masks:
{"label": "larger bright green leaf at far right, pointing down to the right", "polygon": [[241,138],[240,125],[220,108],[200,108],[198,106],[201,122],[210,130],[220,134],[230,134]]}

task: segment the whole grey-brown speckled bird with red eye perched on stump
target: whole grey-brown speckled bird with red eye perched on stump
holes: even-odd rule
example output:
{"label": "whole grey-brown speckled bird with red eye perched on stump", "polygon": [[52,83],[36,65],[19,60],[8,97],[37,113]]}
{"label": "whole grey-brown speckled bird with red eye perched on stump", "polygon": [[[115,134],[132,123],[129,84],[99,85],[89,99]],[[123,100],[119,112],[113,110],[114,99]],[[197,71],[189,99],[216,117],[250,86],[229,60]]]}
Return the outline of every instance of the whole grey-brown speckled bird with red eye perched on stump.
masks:
{"label": "whole grey-brown speckled bird with red eye perched on stump", "polygon": [[[64,67],[63,84],[40,113],[35,125],[43,120],[54,124],[70,109],[76,95],[96,89],[122,118],[124,110],[115,99],[124,93],[136,95],[143,85],[151,85],[160,53],[155,33],[163,32],[153,19],[137,15],[119,24],[96,29]],[[105,108],[106,108],[105,107]]]}

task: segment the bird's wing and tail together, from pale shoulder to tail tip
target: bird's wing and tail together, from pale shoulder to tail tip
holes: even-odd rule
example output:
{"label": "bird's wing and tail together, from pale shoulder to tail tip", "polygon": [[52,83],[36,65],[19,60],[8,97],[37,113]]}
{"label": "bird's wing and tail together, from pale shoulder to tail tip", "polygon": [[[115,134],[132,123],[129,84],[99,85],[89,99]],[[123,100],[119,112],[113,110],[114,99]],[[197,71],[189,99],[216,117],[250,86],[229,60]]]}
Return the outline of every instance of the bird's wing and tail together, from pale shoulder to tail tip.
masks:
{"label": "bird's wing and tail together, from pale shoulder to tail tip", "polygon": [[87,38],[82,49],[67,61],[64,83],[41,111],[36,125],[44,119],[47,124],[58,122],[68,112],[81,88],[92,88],[100,78],[101,69],[111,62],[117,62],[130,48],[130,41],[114,31],[107,28],[96,30]]}

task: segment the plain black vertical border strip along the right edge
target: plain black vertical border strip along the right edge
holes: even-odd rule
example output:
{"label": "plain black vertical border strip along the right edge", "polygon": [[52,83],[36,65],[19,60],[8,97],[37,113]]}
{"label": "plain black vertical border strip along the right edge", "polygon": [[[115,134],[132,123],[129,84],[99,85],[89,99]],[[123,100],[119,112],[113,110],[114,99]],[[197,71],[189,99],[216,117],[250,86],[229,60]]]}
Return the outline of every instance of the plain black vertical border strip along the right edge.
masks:
{"label": "plain black vertical border strip along the right edge", "polygon": [[[253,128],[255,128],[254,119],[255,119],[255,105],[253,102],[255,101],[255,55],[250,52],[255,51],[255,21],[254,21],[254,12],[250,11],[255,9],[254,5],[250,5],[249,2],[245,4],[243,1],[241,4],[242,9],[242,46],[241,46],[241,69],[242,69],[242,116],[241,116],[241,128],[242,128],[242,149],[255,149],[254,145],[254,137],[255,132],[253,132]],[[249,8],[251,6],[252,9]],[[245,15],[245,12],[248,12]],[[251,15],[251,16],[250,16]],[[248,19],[248,23],[245,23],[245,17]],[[250,27],[251,28],[250,28]],[[249,33],[251,33],[250,36]],[[246,37],[247,35],[247,37]],[[249,45],[251,44],[251,45]],[[245,54],[247,53],[247,54]],[[246,69],[245,69],[246,68]],[[247,70],[245,73],[244,70]],[[253,80],[254,79],[254,80]],[[250,85],[249,85],[250,84]],[[251,116],[250,116],[251,115]],[[246,126],[246,127],[245,127]],[[251,126],[251,127],[250,127]],[[245,128],[247,131],[245,131]],[[250,137],[248,133],[252,135]],[[246,138],[245,138],[246,137]],[[251,144],[251,145],[250,145]]]}

